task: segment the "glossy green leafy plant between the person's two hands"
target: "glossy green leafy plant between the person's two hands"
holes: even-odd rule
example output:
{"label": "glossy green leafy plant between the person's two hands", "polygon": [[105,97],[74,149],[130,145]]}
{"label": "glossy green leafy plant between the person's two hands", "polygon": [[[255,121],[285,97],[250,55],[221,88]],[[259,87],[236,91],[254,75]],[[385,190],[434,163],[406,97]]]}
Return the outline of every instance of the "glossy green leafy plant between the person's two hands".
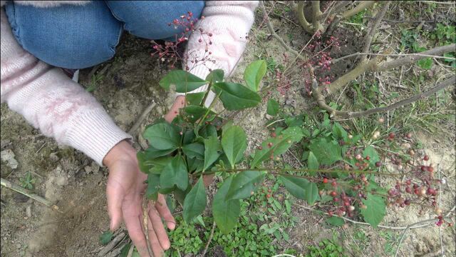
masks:
{"label": "glossy green leafy plant between the person's two hands", "polygon": [[[141,171],[147,173],[147,197],[157,198],[157,193],[173,193],[183,205],[183,218],[195,221],[207,207],[203,176],[217,173],[224,178],[213,201],[214,221],[222,233],[236,226],[240,215],[240,200],[249,198],[264,180],[264,161],[277,158],[304,136],[301,128],[277,129],[254,153],[252,160],[244,158],[247,136],[244,130],[219,116],[212,105],[204,106],[209,91],[216,94],[227,111],[252,108],[261,102],[259,84],[266,74],[266,62],[254,61],[247,66],[244,79],[247,86],[223,80],[222,70],[211,71],[201,79],[186,71],[170,71],[160,86],[187,93],[187,106],[167,124],[159,121],[145,129],[143,137],[149,148],[138,153]],[[200,86],[208,85],[203,94],[189,94]],[[274,105],[277,111],[277,105]],[[242,168],[240,168],[242,167]],[[306,178],[279,174],[284,186],[292,195],[314,203],[318,190]]]}

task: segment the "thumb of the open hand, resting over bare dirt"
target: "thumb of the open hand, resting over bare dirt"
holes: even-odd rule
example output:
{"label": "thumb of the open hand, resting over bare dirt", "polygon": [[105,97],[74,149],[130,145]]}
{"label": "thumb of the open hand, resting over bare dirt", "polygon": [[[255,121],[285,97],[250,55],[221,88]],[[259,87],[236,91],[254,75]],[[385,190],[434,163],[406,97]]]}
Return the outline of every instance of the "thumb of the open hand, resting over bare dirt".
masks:
{"label": "thumb of the open hand, resting over bare dirt", "polygon": [[110,231],[115,231],[120,227],[120,223],[122,222],[122,203],[125,192],[122,186],[108,179],[106,197],[108,198],[108,215],[110,218],[109,228]]}

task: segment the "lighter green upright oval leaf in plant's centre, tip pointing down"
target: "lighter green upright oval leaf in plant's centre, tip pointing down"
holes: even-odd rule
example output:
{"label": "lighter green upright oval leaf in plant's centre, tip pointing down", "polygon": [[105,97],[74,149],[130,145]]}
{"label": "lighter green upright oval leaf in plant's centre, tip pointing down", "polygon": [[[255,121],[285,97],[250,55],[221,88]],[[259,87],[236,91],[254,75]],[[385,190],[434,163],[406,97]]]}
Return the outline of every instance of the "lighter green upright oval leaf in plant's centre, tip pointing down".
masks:
{"label": "lighter green upright oval leaf in plant's centre, tip pointing down", "polygon": [[222,134],[222,148],[227,155],[231,167],[241,161],[243,153],[247,148],[247,135],[239,126],[229,126]]}

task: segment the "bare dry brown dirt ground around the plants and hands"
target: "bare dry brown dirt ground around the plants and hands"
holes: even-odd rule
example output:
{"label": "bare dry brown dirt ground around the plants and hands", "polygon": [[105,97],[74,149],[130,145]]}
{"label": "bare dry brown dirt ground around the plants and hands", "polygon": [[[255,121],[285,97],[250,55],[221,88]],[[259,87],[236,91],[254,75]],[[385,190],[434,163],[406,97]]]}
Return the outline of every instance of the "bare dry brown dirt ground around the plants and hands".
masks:
{"label": "bare dry brown dirt ground around the plants and hands", "polygon": [[[292,15],[290,16],[292,18]],[[289,44],[297,47],[304,45],[309,39],[309,36],[289,19],[276,18],[278,17],[275,16],[273,22],[276,29],[279,29],[279,35],[284,36],[284,39],[289,34],[295,35],[287,41]],[[165,114],[167,106],[172,102],[172,93],[163,91],[157,83],[167,69],[161,66],[157,59],[150,57],[150,46],[147,40],[126,35],[118,46],[115,58],[98,67],[98,73],[103,74],[103,79],[98,83],[93,95],[125,131],[152,101],[157,105],[140,130],[144,129],[145,124]],[[341,55],[351,54],[358,48],[357,41],[347,41],[341,49]],[[258,15],[251,41],[237,71],[232,74],[232,81],[242,81],[244,67],[257,58],[272,57],[277,64],[286,65],[286,60],[290,57],[284,56],[284,52],[283,47],[271,39],[261,16]],[[341,62],[333,68],[333,73],[342,74],[349,66],[350,63]],[[91,69],[81,71],[80,83],[85,87],[90,86],[90,71]],[[274,93],[288,114],[301,114],[316,106],[313,99],[301,94],[300,76],[299,71],[291,74],[290,80],[293,83],[285,96]],[[272,81],[266,79],[266,83]],[[240,114],[237,118],[243,116],[244,114]],[[244,127],[249,138],[247,151],[252,152],[267,136],[268,130],[264,126],[267,119],[270,117],[266,116],[266,101],[244,119],[239,119],[239,125]],[[455,200],[454,137],[440,135],[429,138],[428,134],[420,134],[420,138],[425,142],[427,153],[440,160],[438,164],[442,173],[450,178],[447,190],[442,196],[442,206],[446,210],[450,209]],[[20,184],[19,179],[31,172],[36,179],[35,192],[55,201],[63,211],[51,211],[30,198],[2,187],[1,256],[95,256],[100,248],[98,236],[109,226],[105,202],[105,168],[97,166],[83,153],[58,146],[52,139],[45,138],[19,114],[9,111],[5,104],[1,105],[1,151],[2,154],[8,153],[10,157],[14,153],[14,159],[18,163],[16,168],[11,168],[14,167],[14,161],[2,161],[1,178]],[[293,162],[291,156],[285,156],[284,160]],[[293,212],[299,221],[296,222],[296,227],[289,228],[291,243],[286,243],[284,248],[295,248],[299,253],[304,253],[309,244],[331,238],[336,230],[343,235],[341,243],[351,256],[390,256],[403,233],[403,230],[373,229],[351,223],[343,228],[331,228],[323,223],[322,216],[299,206],[294,206]],[[407,226],[433,216],[432,212],[418,215],[418,210],[413,208],[389,210],[383,224]],[[439,231],[436,226],[408,231],[400,255],[439,255],[439,232],[442,233],[446,256],[454,256],[454,229],[444,228]],[[356,233],[365,236],[359,239],[360,236],[356,236]]]}

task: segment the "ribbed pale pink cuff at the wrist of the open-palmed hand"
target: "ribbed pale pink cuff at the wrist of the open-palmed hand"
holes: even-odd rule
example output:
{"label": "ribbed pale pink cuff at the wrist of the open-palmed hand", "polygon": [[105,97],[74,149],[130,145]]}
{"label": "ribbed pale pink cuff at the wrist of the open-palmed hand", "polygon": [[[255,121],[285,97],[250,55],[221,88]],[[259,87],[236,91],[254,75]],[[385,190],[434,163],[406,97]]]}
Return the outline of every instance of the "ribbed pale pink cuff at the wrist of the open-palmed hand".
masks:
{"label": "ribbed pale pink cuff at the wrist of the open-palmed hand", "polygon": [[71,121],[71,129],[66,133],[65,143],[86,153],[99,166],[103,158],[117,143],[131,139],[128,133],[114,124],[102,109],[87,111]]}

